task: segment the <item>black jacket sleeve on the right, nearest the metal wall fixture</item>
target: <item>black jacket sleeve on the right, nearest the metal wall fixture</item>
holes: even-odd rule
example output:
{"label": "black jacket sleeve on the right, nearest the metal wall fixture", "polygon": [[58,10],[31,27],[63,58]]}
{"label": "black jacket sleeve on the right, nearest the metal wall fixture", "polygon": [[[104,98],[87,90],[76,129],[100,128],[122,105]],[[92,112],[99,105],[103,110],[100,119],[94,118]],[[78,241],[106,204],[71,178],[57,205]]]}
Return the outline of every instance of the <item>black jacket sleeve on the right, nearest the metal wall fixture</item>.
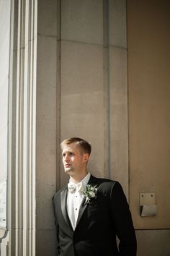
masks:
{"label": "black jacket sleeve on the right, nearest the metal wall fixture", "polygon": [[112,220],[120,240],[121,256],[136,256],[137,243],[128,202],[119,182],[114,182],[110,192]]}

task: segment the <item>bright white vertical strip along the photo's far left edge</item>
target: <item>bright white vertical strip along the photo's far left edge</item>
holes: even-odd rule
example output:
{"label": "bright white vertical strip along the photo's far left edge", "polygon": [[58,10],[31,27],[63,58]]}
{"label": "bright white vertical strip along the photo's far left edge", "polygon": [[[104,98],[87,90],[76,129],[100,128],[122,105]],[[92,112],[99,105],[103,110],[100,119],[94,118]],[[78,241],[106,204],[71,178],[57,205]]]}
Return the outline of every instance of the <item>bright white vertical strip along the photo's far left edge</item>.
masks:
{"label": "bright white vertical strip along the photo's far left edge", "polygon": [[8,98],[10,0],[0,1],[0,255],[6,256],[8,231],[6,216],[6,179],[8,169]]}

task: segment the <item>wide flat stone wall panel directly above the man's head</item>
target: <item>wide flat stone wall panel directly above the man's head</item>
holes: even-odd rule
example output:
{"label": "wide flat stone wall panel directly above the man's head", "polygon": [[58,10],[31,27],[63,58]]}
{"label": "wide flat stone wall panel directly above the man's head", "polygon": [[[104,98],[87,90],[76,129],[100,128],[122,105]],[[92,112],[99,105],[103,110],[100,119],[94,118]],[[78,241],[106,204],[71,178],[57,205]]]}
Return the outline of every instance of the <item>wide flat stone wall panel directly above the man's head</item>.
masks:
{"label": "wide flat stone wall panel directly above the man's head", "polygon": [[[89,168],[102,176],[105,155],[103,2],[62,1],[61,14],[61,140],[67,137],[89,140],[93,146]],[[62,168],[61,186],[67,180]]]}

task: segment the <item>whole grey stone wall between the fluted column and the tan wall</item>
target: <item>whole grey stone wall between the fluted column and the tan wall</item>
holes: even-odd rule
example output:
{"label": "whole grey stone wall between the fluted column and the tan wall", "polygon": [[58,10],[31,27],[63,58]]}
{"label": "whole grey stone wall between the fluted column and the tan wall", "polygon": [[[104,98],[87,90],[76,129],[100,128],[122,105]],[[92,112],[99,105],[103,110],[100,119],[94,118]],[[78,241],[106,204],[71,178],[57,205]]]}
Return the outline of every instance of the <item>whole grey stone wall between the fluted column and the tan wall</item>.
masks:
{"label": "whole grey stone wall between the fluted column and the tan wall", "polygon": [[89,140],[89,171],[119,179],[128,196],[125,1],[108,1],[109,7],[104,3],[38,1],[37,255],[55,255],[51,198],[68,182],[61,140]]}

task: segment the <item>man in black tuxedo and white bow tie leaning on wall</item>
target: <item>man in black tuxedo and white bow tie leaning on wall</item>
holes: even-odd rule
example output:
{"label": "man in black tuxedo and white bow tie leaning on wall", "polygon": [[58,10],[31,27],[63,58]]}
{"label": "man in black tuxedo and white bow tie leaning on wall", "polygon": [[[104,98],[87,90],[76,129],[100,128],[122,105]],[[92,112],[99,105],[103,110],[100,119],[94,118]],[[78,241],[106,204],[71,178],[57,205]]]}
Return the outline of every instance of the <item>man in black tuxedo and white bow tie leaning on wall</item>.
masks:
{"label": "man in black tuxedo and white bow tie leaning on wall", "polygon": [[58,255],[135,256],[133,221],[120,184],[88,173],[91,145],[85,140],[64,140],[61,149],[70,181],[53,197]]}

